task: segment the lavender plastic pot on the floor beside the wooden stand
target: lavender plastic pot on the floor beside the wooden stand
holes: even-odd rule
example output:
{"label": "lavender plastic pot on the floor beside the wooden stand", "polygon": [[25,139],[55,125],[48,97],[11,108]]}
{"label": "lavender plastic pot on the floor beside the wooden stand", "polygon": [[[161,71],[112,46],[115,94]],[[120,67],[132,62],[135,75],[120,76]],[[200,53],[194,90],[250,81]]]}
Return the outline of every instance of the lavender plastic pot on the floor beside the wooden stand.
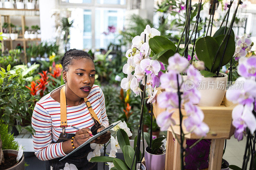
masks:
{"label": "lavender plastic pot on the floor beside the wooden stand", "polygon": [[[148,147],[147,147],[148,148]],[[162,155],[153,155],[147,152],[145,148],[145,165],[147,170],[164,170],[165,153]],[[163,150],[163,147],[161,147]]]}

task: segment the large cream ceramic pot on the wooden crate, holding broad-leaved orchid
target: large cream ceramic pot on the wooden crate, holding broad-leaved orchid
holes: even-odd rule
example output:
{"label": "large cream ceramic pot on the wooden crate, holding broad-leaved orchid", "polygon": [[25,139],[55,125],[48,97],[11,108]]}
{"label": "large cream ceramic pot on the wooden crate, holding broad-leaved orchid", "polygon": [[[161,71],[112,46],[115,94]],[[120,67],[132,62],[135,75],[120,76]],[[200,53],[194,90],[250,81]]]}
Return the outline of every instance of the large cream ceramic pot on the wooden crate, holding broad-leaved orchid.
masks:
{"label": "large cream ceramic pot on the wooden crate, holding broad-leaved orchid", "polygon": [[197,89],[201,94],[199,106],[220,106],[226,92],[228,75],[219,73],[222,77],[203,77],[197,84]]}

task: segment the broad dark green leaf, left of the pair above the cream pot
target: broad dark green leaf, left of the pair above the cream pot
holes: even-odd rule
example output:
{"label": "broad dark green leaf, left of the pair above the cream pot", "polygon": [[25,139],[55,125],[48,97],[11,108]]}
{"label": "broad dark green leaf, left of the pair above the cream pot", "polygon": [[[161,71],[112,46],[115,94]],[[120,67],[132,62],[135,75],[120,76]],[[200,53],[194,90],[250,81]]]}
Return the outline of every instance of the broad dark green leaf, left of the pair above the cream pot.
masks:
{"label": "broad dark green leaf, left of the pair above the cream pot", "polygon": [[220,59],[218,56],[214,66],[212,64],[218,47],[217,41],[210,36],[202,37],[196,41],[196,56],[199,60],[204,61],[205,67],[209,70],[213,67],[212,70],[215,71],[219,66]]}

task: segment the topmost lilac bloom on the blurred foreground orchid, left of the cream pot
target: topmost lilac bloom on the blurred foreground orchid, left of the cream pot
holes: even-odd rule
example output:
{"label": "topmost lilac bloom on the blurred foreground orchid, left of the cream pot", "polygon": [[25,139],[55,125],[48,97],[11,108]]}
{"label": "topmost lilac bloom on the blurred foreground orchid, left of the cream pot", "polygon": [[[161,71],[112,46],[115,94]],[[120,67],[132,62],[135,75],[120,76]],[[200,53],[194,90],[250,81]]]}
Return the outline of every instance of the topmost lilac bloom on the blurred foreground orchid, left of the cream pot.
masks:
{"label": "topmost lilac bloom on the blurred foreground orchid, left of the cream pot", "polygon": [[177,73],[184,72],[189,66],[189,62],[186,58],[181,57],[179,53],[174,54],[172,57],[168,59],[168,67],[169,71],[175,71]]}

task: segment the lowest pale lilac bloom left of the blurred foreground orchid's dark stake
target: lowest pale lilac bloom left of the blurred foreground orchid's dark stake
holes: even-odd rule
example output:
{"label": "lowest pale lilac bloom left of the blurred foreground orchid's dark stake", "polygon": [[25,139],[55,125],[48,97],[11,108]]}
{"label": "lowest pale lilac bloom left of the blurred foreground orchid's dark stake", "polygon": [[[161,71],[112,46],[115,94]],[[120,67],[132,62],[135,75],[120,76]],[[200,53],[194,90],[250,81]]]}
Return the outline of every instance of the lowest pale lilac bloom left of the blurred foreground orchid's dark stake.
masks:
{"label": "lowest pale lilac bloom left of the blurred foreground orchid's dark stake", "polygon": [[161,131],[167,131],[171,125],[175,125],[175,120],[172,118],[172,112],[164,111],[156,118],[156,123],[161,128]]}

